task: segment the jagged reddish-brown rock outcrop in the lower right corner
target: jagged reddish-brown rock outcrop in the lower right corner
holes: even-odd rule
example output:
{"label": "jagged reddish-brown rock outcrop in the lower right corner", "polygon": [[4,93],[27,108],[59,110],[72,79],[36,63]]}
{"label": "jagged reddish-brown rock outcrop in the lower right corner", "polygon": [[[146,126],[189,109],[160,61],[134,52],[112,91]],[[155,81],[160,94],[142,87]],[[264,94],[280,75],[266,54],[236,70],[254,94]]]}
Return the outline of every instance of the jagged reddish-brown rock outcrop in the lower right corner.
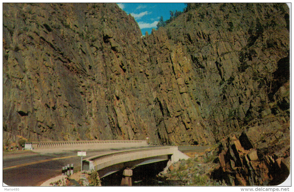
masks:
{"label": "jagged reddish-brown rock outcrop in the lower right corner", "polygon": [[[290,174],[290,143],[285,143],[278,131],[271,135],[273,151],[263,151],[266,147],[253,148],[255,134],[242,132],[239,139],[235,135],[222,140],[218,154],[218,167],[211,178],[238,186],[278,185]],[[288,140],[289,138],[287,138]],[[264,140],[265,141],[265,140]],[[265,142],[263,142],[265,143]]]}

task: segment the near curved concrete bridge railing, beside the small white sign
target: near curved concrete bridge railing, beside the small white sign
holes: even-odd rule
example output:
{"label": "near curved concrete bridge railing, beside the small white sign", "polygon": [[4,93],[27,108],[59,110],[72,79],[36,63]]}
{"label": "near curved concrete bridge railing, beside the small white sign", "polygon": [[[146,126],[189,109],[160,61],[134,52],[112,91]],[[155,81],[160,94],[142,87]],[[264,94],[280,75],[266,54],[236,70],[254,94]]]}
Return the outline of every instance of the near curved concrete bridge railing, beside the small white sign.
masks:
{"label": "near curved concrete bridge railing, beside the small white sign", "polygon": [[83,160],[83,170],[100,170],[110,165],[122,162],[128,162],[161,155],[173,155],[177,151],[177,146],[165,146],[149,147],[146,149],[128,150],[123,152],[97,155]]}

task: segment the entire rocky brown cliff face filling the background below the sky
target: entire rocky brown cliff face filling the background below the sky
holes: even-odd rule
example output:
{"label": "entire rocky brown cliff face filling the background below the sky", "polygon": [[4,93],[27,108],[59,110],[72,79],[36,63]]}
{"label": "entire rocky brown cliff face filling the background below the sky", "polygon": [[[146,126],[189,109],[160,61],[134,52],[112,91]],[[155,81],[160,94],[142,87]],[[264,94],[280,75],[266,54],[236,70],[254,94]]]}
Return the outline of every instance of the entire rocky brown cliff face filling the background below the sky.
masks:
{"label": "entire rocky brown cliff face filling the background below the sky", "polygon": [[5,140],[289,138],[289,74],[285,4],[188,4],[145,37],[116,4],[3,4]]}

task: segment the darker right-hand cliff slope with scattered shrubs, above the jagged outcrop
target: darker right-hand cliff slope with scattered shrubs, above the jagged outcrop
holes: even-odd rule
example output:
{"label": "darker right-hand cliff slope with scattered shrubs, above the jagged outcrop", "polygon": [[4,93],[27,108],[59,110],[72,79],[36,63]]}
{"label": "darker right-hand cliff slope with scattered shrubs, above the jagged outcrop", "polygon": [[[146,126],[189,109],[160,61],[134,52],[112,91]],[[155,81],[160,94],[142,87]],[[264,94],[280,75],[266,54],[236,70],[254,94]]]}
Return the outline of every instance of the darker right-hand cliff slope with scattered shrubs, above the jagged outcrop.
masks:
{"label": "darker right-hand cliff slope with scattered shrubs, above the jagged outcrop", "polygon": [[[289,97],[277,93],[289,90],[287,6],[196,3],[187,9],[166,31],[187,47],[195,87],[189,92],[197,93],[214,136],[250,127],[268,114],[289,116]],[[285,108],[277,106],[282,100]]]}

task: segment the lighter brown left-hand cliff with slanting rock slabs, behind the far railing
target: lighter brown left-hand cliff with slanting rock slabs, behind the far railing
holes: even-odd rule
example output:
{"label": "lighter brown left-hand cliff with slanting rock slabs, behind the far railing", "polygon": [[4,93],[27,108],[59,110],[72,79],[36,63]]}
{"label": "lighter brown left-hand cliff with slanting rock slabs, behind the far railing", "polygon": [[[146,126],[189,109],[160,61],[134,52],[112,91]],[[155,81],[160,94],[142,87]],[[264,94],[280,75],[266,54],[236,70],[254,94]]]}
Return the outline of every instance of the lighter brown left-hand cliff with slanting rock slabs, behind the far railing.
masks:
{"label": "lighter brown left-hand cliff with slanting rock slabs, behind the far railing", "polygon": [[183,47],[116,4],[4,4],[3,31],[4,138],[214,142],[172,72]]}

